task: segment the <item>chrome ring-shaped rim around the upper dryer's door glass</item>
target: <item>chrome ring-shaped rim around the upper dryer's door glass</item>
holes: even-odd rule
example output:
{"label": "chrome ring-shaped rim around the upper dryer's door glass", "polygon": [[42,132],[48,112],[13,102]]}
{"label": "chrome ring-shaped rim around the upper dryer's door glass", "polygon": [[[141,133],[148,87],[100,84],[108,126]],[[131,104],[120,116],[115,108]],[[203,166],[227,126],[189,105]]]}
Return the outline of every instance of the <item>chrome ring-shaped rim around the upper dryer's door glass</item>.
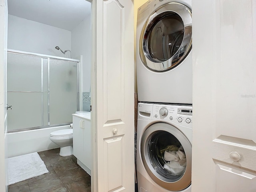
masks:
{"label": "chrome ring-shaped rim around the upper dryer's door glass", "polygon": [[[180,16],[184,24],[184,37],[178,51],[168,60],[161,61],[152,58],[148,52],[148,36],[150,31],[155,26],[155,22],[161,15],[164,14],[176,14]],[[162,18],[160,18],[161,20]],[[184,41],[186,38],[186,41]],[[186,44],[186,42],[189,42]],[[183,50],[182,50],[183,49]],[[150,70],[157,72],[165,72],[178,66],[190,53],[192,49],[192,12],[191,10],[180,3],[171,2],[159,7],[155,10],[146,21],[139,42],[139,55],[142,63]],[[179,56],[179,52],[182,51],[183,55]]]}

